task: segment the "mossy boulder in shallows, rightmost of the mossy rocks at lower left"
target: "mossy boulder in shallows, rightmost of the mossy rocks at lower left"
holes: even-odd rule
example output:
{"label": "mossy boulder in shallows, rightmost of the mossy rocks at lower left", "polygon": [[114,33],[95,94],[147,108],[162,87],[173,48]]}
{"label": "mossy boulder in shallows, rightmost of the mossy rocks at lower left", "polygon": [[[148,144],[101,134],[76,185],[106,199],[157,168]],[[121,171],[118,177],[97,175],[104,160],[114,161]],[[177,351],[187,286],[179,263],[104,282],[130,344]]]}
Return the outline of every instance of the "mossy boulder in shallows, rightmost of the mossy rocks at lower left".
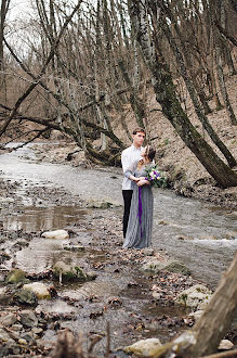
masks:
{"label": "mossy boulder in shallows, rightmost of the mossy rocks at lower left", "polygon": [[87,273],[78,266],[70,266],[65,264],[64,261],[57,261],[53,266],[53,273],[56,277],[65,278],[67,280],[69,279],[78,279],[81,281],[85,281],[88,276]]}

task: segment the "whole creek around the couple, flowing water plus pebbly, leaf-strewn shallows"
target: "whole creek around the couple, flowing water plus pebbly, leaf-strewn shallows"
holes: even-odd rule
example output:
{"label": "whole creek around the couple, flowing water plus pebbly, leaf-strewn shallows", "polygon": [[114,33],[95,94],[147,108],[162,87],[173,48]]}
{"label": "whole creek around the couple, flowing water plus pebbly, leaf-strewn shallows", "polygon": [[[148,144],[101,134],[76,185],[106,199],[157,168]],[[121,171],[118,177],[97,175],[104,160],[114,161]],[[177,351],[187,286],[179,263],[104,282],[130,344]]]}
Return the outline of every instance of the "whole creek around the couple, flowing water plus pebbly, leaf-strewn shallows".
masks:
{"label": "whole creek around the couple, flowing water plus pebbly, leaf-strewn shallows", "polygon": [[[83,332],[85,349],[98,340],[94,351],[103,357],[107,322],[111,357],[124,356],[118,347],[141,338],[168,342],[194,324],[188,315],[195,309],[175,304],[179,293],[198,281],[213,289],[232,260],[236,245],[233,209],[156,191],[154,250],[124,251],[117,169],[37,163],[27,151],[22,158],[2,155],[0,170],[0,285],[8,289],[0,293],[2,355],[49,356],[57,333],[69,328],[76,334]],[[43,231],[56,229],[67,230],[69,239],[42,238]],[[164,263],[170,257],[183,258],[192,276],[141,270],[150,259]],[[58,259],[93,272],[94,280],[60,284],[51,274]],[[39,299],[37,307],[16,305],[12,296],[23,282],[5,283],[13,268],[24,270],[29,282],[47,284],[51,299]],[[22,316],[30,316],[25,310],[35,315],[34,325],[23,323]],[[4,319],[12,324],[5,325]],[[235,343],[235,328],[228,337]]]}

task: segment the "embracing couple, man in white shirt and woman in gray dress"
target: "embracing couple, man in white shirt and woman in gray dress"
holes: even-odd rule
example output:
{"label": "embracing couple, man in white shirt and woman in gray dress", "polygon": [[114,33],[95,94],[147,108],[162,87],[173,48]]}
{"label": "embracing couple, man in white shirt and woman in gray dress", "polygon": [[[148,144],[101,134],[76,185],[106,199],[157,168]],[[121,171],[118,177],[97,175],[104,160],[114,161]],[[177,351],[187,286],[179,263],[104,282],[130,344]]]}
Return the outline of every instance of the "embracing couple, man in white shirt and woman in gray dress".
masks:
{"label": "embracing couple, man in white shirt and woman in gray dress", "polygon": [[132,133],[133,143],[121,155],[123,182],[123,247],[143,248],[152,244],[154,199],[147,170],[154,165],[156,151],[142,146],[145,130],[136,128]]}

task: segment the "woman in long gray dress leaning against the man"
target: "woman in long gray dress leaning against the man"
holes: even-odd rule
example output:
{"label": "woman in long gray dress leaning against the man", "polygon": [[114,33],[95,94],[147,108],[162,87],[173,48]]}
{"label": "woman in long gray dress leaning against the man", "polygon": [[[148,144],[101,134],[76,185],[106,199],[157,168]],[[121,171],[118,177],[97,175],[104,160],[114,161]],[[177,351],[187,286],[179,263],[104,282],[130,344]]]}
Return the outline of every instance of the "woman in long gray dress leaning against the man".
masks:
{"label": "woman in long gray dress leaning against the man", "polygon": [[154,197],[152,186],[146,179],[146,170],[154,165],[156,150],[147,145],[141,154],[134,176],[129,223],[123,247],[143,248],[152,244]]}

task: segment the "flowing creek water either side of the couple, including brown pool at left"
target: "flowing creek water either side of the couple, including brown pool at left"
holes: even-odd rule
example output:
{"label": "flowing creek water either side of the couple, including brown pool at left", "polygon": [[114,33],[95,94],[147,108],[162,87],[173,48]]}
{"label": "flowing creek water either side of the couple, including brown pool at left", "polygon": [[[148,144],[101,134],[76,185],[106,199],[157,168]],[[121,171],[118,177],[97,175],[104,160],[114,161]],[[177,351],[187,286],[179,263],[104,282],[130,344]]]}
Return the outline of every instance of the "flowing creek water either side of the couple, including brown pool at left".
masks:
{"label": "flowing creek water either side of the couple, including brown pool at left", "polygon": [[[39,144],[40,145],[40,144]],[[0,156],[0,177],[25,180],[25,186],[48,186],[66,190],[83,200],[103,200],[122,205],[118,169],[93,170],[69,165],[36,163],[30,148]],[[27,204],[27,195],[22,195]],[[161,248],[184,261],[195,278],[215,285],[232,261],[237,247],[237,212],[207,202],[181,197],[169,190],[155,189],[154,247]],[[37,208],[28,203],[16,217],[5,218],[9,229],[35,227],[35,230],[56,229],[78,219],[80,207]],[[122,207],[117,210],[122,216]]]}

